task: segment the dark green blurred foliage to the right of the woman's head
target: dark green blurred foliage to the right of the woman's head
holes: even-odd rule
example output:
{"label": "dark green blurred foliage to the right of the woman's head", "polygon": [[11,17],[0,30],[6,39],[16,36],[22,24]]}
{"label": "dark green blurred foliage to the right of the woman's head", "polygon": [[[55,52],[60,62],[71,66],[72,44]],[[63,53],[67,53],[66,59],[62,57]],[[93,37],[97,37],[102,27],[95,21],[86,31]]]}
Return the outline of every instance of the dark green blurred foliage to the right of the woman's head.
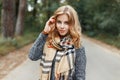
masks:
{"label": "dark green blurred foliage to the right of the woman's head", "polygon": [[76,0],[70,4],[76,8],[84,31],[90,31],[92,35],[101,32],[114,36],[120,35],[120,2]]}

